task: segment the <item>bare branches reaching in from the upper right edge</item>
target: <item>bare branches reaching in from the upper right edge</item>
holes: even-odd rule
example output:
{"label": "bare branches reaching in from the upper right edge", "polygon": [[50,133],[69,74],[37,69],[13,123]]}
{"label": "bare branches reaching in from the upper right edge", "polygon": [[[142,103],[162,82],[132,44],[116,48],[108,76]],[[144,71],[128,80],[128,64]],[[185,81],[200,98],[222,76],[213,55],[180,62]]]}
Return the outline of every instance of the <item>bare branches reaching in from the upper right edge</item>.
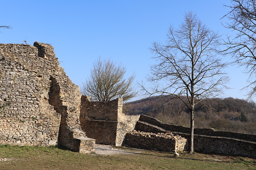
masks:
{"label": "bare branches reaching in from the upper right edge", "polygon": [[[248,82],[251,87],[248,98],[256,94],[256,1],[255,0],[232,0],[230,12],[224,16],[230,20],[226,28],[235,33],[228,36],[224,41],[226,49],[224,54],[231,55],[235,63],[245,66],[245,72],[249,74]],[[223,18],[224,18],[223,17]]]}

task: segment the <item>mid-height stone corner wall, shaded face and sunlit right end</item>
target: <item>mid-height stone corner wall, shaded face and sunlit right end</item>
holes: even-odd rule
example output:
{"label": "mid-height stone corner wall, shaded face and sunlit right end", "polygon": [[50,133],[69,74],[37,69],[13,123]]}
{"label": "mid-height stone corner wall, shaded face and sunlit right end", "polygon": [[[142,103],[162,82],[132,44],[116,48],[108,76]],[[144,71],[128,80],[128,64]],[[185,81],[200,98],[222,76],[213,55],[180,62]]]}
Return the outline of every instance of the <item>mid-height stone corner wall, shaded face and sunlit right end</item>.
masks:
{"label": "mid-height stone corner wall, shaded face and sunlit right end", "polygon": [[97,144],[122,145],[126,133],[134,130],[139,119],[126,116],[122,112],[122,99],[109,102],[90,101],[88,96],[81,97],[81,128],[88,137],[96,139]]}

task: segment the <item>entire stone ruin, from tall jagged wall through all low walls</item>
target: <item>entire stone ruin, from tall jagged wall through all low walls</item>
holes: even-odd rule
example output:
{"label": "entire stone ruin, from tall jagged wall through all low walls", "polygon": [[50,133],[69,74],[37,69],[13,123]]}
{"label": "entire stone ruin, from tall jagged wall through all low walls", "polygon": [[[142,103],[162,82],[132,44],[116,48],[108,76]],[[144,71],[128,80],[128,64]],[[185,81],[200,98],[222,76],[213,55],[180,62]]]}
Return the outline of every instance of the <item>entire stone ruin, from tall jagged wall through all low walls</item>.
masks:
{"label": "entire stone ruin, from tall jagged wall through all low walls", "polygon": [[[96,102],[82,96],[52,46],[0,44],[0,144],[59,145],[81,153],[94,151],[96,143],[188,149],[189,128],[127,116],[122,106],[122,99]],[[195,129],[194,148],[256,157],[256,135]]]}

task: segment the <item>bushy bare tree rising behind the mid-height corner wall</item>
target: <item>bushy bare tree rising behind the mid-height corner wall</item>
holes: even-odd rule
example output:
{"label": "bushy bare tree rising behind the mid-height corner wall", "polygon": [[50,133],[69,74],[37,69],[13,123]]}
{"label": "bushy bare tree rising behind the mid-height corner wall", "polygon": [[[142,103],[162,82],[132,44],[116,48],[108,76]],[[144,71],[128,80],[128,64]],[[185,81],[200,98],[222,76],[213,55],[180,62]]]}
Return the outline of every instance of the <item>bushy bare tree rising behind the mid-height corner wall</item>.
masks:
{"label": "bushy bare tree rising behind the mid-height corner wall", "polygon": [[82,83],[82,95],[91,96],[96,101],[110,101],[123,98],[124,101],[136,96],[132,87],[135,75],[125,79],[125,67],[116,66],[110,59],[102,61],[99,58],[91,70],[91,75]]}

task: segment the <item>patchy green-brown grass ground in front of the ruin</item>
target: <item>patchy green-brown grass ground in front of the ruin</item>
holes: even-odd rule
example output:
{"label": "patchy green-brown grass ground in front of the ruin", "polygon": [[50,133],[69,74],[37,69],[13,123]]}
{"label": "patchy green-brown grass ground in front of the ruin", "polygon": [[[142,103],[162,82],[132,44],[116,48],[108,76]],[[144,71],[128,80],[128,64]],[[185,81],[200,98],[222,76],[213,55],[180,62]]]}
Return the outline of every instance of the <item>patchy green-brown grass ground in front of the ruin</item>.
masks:
{"label": "patchy green-brown grass ground in front of the ruin", "polygon": [[119,147],[133,154],[82,154],[57,147],[0,145],[0,169],[256,169],[256,159]]}

